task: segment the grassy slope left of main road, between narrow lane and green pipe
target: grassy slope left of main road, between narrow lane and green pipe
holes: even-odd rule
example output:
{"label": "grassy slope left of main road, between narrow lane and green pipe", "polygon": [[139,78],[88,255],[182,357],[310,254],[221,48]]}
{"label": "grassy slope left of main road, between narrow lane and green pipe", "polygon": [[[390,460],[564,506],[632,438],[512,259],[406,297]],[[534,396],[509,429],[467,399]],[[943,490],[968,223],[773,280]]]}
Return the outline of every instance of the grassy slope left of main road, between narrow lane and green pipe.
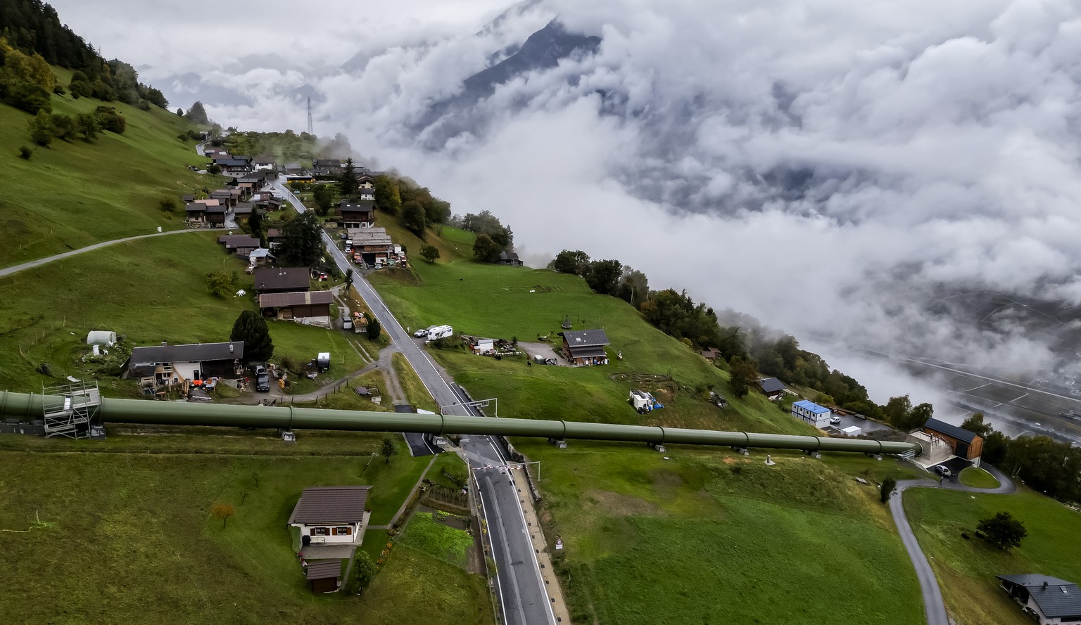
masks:
{"label": "grassy slope left of main road, between narrow lane and green pipe", "polygon": [[[92,329],[114,330],[133,345],[228,340],[240,311],[255,305],[252,277],[215,235],[186,232],[122,243],[0,278],[0,389],[40,392],[42,384],[76,376],[99,378],[106,394],[130,395],[135,384],[114,377],[123,356],[102,365],[82,361]],[[249,295],[212,296],[205,278],[211,271],[236,272],[236,288]],[[270,336],[279,361],[291,355],[306,362],[331,352],[331,370],[304,380],[297,392],[364,365],[337,331],[270,322]],[[51,377],[36,370],[43,363]]]}

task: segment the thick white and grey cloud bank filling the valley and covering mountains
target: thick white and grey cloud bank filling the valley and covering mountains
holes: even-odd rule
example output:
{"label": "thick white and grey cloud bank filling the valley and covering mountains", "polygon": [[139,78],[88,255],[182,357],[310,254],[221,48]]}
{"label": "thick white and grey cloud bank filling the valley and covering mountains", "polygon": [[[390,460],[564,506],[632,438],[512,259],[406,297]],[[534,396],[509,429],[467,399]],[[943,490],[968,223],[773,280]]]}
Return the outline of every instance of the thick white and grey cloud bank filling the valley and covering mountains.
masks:
{"label": "thick white and grey cloud bank filling the valley and covering mountains", "polygon": [[[421,17],[411,36],[358,42],[348,71],[223,66],[211,74],[251,104],[209,108],[226,125],[302,130],[282,93],[307,81],[325,97],[317,132],[344,132],[455,213],[499,215],[526,258],[618,258],[831,362],[850,357],[839,345],[1053,361],[1023,323],[929,304],[980,289],[1081,302],[1076,3],[587,4],[521,5],[479,35],[496,8]],[[435,103],[556,15],[602,37],[597,53],[519,76],[436,132]],[[878,398],[906,392],[877,377]]]}

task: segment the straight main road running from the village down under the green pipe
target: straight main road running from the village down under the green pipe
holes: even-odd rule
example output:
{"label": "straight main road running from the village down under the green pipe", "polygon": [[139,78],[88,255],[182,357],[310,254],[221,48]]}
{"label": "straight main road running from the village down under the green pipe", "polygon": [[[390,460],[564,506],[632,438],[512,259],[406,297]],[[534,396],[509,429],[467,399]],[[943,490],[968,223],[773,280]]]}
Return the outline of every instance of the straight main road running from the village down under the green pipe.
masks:
{"label": "straight main road running from the village down under the green pipe", "polygon": [[[275,190],[293,203],[297,210],[306,208],[301,201],[279,180]],[[326,252],[343,273],[353,266],[338,249],[325,232],[322,233]],[[431,397],[442,407],[445,415],[476,415],[479,412],[467,403],[461,389],[444,377],[422,344],[410,336],[398,323],[372,285],[359,272],[353,271],[352,284],[368,302],[379,325],[416,371]],[[519,492],[507,475],[501,475],[506,459],[497,444],[490,436],[466,436],[462,439],[466,458],[475,476],[475,485],[484,506],[492,553],[496,563],[496,582],[504,611],[504,623],[508,625],[555,625],[548,593],[536,553],[530,541],[529,527],[522,512]]]}

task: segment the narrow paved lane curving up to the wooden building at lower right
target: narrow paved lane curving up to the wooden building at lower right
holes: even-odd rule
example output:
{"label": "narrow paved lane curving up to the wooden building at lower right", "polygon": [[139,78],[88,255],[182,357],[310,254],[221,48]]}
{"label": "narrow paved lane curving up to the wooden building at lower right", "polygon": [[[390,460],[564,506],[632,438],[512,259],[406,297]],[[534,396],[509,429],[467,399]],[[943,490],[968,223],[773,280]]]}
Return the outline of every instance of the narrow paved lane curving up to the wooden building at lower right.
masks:
{"label": "narrow paved lane curving up to the wooden building at lower right", "polygon": [[916,576],[920,581],[920,594],[923,596],[923,610],[927,617],[927,625],[951,624],[949,616],[946,614],[946,603],[943,601],[942,589],[938,587],[938,580],[935,578],[935,572],[931,568],[927,557],[923,555],[920,543],[916,540],[916,534],[912,533],[912,527],[908,525],[908,518],[905,516],[905,506],[902,502],[902,494],[909,488],[945,488],[966,492],[1001,494],[1012,493],[1016,490],[1013,480],[1003,475],[999,470],[990,465],[984,466],[984,468],[999,480],[998,488],[973,488],[964,486],[960,481],[957,481],[956,478],[943,484],[938,484],[932,479],[903,479],[897,483],[896,493],[890,498],[890,514],[893,515],[893,520],[897,525],[897,532],[900,533],[900,541],[905,544],[905,551],[908,552],[908,558],[912,560],[912,567],[916,568]]}

